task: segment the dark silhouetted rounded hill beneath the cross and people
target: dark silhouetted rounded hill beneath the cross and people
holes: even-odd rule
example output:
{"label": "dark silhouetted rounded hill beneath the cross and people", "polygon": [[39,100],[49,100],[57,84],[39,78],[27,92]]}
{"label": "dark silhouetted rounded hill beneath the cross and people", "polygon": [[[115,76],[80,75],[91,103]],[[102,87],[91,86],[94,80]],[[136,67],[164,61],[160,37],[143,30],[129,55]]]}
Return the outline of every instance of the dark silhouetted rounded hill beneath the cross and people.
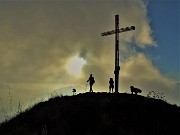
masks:
{"label": "dark silhouetted rounded hill beneath the cross and people", "polygon": [[41,102],[0,125],[0,135],[175,135],[180,107],[132,94],[85,93]]}

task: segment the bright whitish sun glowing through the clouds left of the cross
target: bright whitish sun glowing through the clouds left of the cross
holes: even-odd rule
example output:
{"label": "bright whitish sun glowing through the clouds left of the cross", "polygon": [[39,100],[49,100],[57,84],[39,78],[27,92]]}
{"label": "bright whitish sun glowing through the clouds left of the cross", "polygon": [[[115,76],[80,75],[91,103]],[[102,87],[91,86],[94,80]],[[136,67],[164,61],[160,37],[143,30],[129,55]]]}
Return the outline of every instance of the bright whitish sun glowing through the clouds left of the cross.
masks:
{"label": "bright whitish sun glowing through the clouds left of the cross", "polygon": [[67,69],[73,75],[80,75],[83,65],[86,61],[83,58],[79,58],[78,55],[70,59]]}

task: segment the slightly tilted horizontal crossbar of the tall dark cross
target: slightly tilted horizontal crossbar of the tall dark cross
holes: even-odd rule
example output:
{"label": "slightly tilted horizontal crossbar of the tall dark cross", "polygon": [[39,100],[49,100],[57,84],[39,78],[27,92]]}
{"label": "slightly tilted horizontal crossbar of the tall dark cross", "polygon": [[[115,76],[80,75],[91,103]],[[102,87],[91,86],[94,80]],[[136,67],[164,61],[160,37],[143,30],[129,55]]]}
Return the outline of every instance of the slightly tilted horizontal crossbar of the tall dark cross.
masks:
{"label": "slightly tilted horizontal crossbar of the tall dark cross", "polygon": [[[134,26],[118,29],[117,33],[127,32],[127,31],[132,31],[132,30],[135,30]],[[101,36],[112,35],[112,34],[115,34],[115,33],[116,33],[116,31],[112,30],[112,31],[101,33]]]}

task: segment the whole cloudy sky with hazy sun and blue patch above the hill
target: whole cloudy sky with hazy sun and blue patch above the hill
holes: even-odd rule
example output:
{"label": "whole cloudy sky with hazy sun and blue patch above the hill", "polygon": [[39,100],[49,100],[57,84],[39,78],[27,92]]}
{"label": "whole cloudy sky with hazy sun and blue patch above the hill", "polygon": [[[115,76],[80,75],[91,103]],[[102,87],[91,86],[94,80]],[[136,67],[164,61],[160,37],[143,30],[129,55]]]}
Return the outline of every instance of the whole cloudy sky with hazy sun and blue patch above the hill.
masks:
{"label": "whole cloudy sky with hazy sun and blue patch above the hill", "polygon": [[119,91],[133,85],[180,105],[179,9],[178,0],[0,0],[0,121],[19,102],[85,92],[90,73],[94,91],[107,92],[114,35],[101,33],[116,14],[121,28],[136,27],[120,34]]}

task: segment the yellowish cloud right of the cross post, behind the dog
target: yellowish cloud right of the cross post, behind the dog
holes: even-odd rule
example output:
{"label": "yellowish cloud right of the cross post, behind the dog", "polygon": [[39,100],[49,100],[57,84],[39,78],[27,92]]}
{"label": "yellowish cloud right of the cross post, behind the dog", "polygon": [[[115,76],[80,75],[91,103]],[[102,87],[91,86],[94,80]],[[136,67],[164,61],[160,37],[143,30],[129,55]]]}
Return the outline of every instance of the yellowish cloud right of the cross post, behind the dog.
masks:
{"label": "yellowish cloud right of the cross post, behind the dog", "polygon": [[130,91],[131,85],[143,90],[144,95],[150,91],[165,93],[167,101],[179,101],[179,89],[176,81],[163,75],[152,63],[151,59],[142,53],[130,56],[122,64],[120,85],[124,91]]}

